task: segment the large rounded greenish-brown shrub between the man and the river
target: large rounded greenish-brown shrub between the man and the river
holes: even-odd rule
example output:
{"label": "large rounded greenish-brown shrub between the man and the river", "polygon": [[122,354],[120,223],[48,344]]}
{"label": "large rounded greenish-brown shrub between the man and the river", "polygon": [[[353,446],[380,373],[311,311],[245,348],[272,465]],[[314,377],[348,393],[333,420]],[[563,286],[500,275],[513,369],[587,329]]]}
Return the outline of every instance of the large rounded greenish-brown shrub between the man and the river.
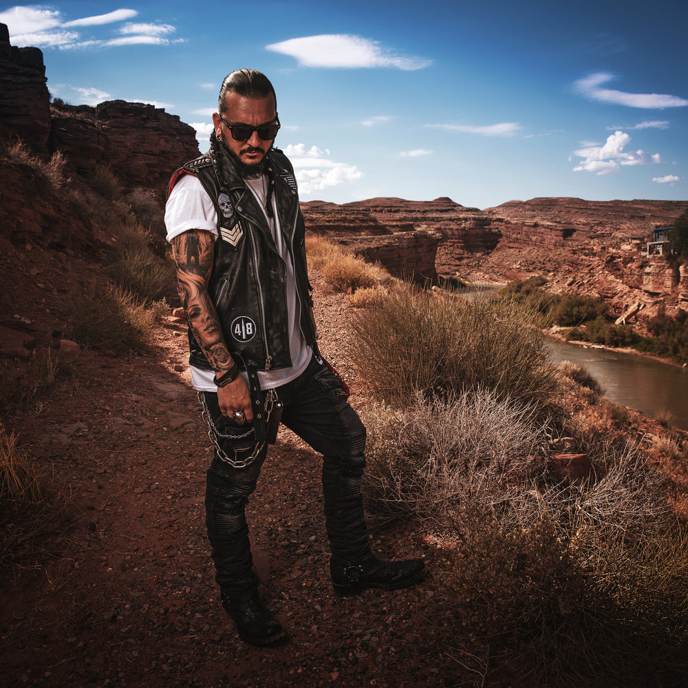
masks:
{"label": "large rounded greenish-brown shrub between the man and the river", "polygon": [[358,311],[353,327],[356,367],[378,399],[403,404],[416,390],[485,387],[529,405],[544,403],[555,388],[544,338],[510,302],[391,290]]}

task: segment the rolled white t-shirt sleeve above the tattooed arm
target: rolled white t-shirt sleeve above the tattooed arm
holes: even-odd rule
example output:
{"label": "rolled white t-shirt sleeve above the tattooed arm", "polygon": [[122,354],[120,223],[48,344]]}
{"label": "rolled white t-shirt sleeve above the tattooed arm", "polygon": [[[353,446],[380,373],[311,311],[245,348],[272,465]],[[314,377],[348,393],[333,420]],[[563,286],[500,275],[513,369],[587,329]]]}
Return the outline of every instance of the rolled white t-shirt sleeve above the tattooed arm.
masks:
{"label": "rolled white t-shirt sleeve above the tattooed arm", "polygon": [[201,182],[185,174],[175,184],[165,206],[167,241],[190,230],[202,229],[217,237],[217,212]]}

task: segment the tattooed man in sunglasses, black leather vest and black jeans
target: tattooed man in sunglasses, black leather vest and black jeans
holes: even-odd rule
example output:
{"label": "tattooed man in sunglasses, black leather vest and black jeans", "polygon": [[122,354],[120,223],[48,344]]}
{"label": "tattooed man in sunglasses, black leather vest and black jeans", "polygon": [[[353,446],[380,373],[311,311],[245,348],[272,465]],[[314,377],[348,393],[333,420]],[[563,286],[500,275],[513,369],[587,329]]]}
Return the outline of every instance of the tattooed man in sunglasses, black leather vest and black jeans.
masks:
{"label": "tattooed man in sunglasses, black leather vest and black jeans", "polygon": [[229,74],[213,125],[210,151],[173,175],[165,222],[215,450],[206,481],[215,579],[239,636],[269,645],[285,633],[259,598],[244,508],[280,420],[323,454],[334,590],[396,590],[426,567],[380,561],[369,548],[365,428],[316,346],[303,216],[292,166],[272,147],[280,125],[268,78]]}

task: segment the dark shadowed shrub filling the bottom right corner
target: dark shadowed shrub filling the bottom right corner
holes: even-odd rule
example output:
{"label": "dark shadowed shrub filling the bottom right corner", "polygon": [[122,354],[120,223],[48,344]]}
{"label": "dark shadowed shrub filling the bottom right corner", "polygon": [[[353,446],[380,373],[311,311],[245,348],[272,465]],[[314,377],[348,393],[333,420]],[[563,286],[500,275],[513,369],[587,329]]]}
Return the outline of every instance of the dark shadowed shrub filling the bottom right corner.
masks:
{"label": "dark shadowed shrub filling the bottom right corner", "polygon": [[685,531],[630,541],[597,530],[582,543],[543,520],[517,532],[458,526],[456,539],[441,627],[482,685],[504,667],[510,685],[679,685]]}

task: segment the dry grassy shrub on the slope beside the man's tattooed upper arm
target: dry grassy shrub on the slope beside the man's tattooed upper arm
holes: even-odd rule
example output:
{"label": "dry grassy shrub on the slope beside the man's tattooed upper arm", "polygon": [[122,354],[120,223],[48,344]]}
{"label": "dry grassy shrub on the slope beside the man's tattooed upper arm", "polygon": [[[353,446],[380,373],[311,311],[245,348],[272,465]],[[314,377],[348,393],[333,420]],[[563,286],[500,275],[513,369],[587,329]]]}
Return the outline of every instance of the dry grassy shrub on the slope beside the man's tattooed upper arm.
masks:
{"label": "dry grassy shrub on the slope beside the man's tattooed upper arm", "polygon": [[176,280],[171,261],[155,255],[151,250],[149,231],[134,222],[131,216],[120,225],[117,244],[105,271],[142,303],[174,298]]}

